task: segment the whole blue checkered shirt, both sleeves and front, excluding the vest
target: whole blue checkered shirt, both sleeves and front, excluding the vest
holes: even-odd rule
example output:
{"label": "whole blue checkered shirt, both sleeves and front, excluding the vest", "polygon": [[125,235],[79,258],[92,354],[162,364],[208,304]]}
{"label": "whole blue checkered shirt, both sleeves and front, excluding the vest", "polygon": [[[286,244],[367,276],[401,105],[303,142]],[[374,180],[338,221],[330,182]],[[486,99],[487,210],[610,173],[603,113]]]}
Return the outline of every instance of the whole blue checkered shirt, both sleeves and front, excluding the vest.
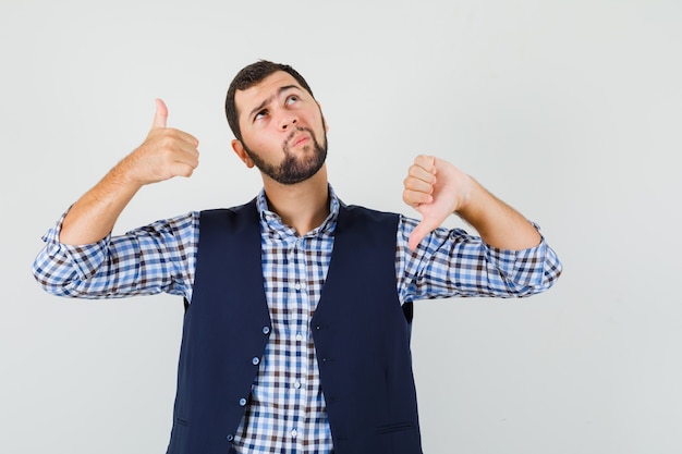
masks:
{"label": "whole blue checkered shirt, both sleeves and front, excluding the vest", "polygon": [[[272,333],[233,441],[235,453],[330,453],[331,435],[309,321],[333,248],[339,199],[301,236],[270,211],[261,191],[261,257]],[[95,244],[59,243],[63,217],[44,236],[34,275],[54,295],[112,298],[169,293],[192,299],[199,213],[155,222]],[[416,250],[407,247],[415,219],[400,217],[395,283],[401,303],[451,296],[521,297],[550,287],[561,262],[545,240],[525,250],[490,247],[464,230],[444,228]]]}

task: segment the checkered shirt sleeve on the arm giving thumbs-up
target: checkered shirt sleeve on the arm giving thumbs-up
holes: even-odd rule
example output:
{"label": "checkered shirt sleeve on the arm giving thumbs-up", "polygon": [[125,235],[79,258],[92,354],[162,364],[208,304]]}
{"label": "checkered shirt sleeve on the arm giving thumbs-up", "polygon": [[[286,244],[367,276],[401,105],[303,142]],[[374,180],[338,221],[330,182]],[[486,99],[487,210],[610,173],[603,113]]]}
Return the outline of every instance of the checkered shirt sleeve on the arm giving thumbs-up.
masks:
{"label": "checkered shirt sleeve on the arm giving thumbs-up", "polygon": [[59,242],[63,214],[42,241],[33,273],[57,296],[118,298],[161,292],[191,298],[198,213],[157,221],[82,246]]}

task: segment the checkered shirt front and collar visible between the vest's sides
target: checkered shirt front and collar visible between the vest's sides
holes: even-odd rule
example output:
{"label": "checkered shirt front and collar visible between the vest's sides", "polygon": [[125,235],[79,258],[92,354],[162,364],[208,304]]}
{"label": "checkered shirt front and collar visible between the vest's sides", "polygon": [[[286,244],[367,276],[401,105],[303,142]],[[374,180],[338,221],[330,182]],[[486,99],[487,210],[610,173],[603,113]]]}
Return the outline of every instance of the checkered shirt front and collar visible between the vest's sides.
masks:
{"label": "checkered shirt front and collar visible between the vest's sides", "polygon": [[300,236],[258,198],[265,293],[272,332],[251,402],[234,437],[236,453],[322,454],[332,450],[309,321],[331,259],[339,201]]}

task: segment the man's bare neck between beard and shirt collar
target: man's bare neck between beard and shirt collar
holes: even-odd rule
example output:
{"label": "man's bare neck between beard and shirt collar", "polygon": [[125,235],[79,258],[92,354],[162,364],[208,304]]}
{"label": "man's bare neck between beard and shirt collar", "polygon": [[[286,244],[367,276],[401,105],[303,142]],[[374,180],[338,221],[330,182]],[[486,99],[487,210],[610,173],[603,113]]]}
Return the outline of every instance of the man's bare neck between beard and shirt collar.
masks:
{"label": "man's bare neck between beard and shirt collar", "polygon": [[292,226],[299,235],[305,235],[319,226],[329,216],[329,188],[327,167],[308,180],[284,185],[263,176],[269,208]]}

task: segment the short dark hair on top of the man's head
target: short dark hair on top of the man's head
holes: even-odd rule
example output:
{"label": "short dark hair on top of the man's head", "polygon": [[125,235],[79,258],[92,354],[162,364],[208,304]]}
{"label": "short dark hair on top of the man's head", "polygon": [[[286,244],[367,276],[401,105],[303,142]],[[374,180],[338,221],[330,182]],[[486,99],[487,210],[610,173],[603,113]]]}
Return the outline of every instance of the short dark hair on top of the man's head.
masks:
{"label": "short dark hair on top of the man's head", "polygon": [[[278,71],[283,71],[288,74],[291,74],[293,78],[296,79],[301,86],[313,96],[313,90],[305,78],[296,70],[291,68],[288,64],[281,63],[272,63],[267,60],[259,60],[256,63],[252,63],[248,66],[242,69],[232,82],[230,83],[230,87],[228,88],[228,96],[224,102],[224,111],[228,116],[228,124],[236,137],[238,140],[242,140],[242,131],[240,130],[240,121],[239,113],[236,111],[236,106],[234,105],[234,95],[236,90],[245,90],[251,88],[252,86],[260,83],[264,78],[269,76],[272,73]],[[315,96],[313,96],[315,98]]]}

